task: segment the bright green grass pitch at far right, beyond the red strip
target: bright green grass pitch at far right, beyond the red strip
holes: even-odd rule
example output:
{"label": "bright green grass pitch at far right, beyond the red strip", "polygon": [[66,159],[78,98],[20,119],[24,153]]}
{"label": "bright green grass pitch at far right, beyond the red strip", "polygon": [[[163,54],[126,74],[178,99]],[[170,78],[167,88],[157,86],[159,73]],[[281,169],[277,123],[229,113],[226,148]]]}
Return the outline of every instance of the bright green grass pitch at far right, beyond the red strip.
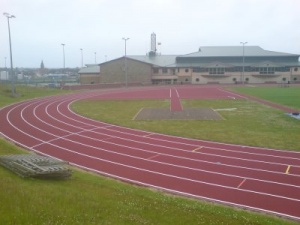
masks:
{"label": "bright green grass pitch at far right, beyond the red strip", "polygon": [[300,86],[239,87],[232,90],[300,110]]}

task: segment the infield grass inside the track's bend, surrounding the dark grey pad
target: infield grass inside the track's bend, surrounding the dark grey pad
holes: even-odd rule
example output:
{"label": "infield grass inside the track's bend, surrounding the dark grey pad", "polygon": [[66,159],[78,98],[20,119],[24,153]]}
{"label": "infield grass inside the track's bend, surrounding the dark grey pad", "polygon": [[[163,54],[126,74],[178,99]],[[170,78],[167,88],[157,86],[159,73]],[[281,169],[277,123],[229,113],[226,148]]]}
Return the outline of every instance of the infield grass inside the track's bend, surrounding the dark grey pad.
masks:
{"label": "infield grass inside the track's bend, surrounding the dark grey pad", "polygon": [[[300,151],[300,121],[280,110],[249,100],[183,100],[184,108],[209,107],[224,120],[135,121],[144,107],[168,107],[169,101],[80,101],[72,109],[121,126],[225,143]],[[226,109],[234,109],[226,111]],[[93,112],[93,113],[91,113]]]}

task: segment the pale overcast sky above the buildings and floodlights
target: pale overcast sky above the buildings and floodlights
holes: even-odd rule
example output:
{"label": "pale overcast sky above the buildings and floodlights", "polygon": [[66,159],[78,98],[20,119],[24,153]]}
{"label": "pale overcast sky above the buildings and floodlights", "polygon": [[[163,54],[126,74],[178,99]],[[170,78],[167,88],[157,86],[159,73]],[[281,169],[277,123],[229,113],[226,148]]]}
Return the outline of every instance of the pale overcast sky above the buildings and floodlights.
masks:
{"label": "pale overcast sky above the buildings and floodlights", "polygon": [[300,54],[300,0],[0,0],[0,9],[0,68],[10,66],[4,12],[16,17],[9,21],[19,68],[109,61],[124,56],[123,37],[127,55],[145,55],[151,33],[162,55],[240,42]]}

